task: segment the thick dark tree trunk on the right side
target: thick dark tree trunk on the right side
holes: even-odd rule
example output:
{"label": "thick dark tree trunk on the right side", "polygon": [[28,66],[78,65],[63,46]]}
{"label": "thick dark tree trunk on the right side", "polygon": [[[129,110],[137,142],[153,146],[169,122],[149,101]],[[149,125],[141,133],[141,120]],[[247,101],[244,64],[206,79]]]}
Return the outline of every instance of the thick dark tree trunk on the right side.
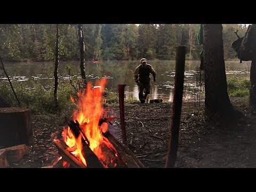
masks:
{"label": "thick dark tree trunk on the right side", "polygon": [[221,115],[231,109],[227,92],[225,60],[221,24],[203,25],[205,58],[205,112]]}

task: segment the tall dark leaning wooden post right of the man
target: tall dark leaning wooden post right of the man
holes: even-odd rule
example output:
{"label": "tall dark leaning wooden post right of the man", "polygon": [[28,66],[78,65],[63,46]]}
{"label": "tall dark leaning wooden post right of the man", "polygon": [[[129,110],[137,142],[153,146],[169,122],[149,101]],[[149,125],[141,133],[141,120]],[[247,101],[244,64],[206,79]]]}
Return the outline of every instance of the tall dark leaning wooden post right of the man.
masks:
{"label": "tall dark leaning wooden post right of the man", "polygon": [[182,98],[183,98],[185,60],[186,60],[186,47],[179,46],[177,48],[176,61],[175,61],[171,137],[169,141],[169,150],[167,153],[165,168],[174,167],[174,164],[177,158],[180,116],[181,116],[181,107],[182,107]]}

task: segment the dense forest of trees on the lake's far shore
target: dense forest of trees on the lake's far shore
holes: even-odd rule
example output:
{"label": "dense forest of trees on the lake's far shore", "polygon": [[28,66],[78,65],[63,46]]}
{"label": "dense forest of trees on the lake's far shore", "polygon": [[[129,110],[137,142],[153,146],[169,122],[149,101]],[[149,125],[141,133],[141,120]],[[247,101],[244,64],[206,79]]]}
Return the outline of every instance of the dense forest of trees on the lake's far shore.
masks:
{"label": "dense forest of trees on the lake's far shore", "polygon": [[[60,60],[79,60],[77,24],[60,26]],[[185,45],[188,59],[199,59],[200,24],[83,24],[86,60],[175,59],[175,47]],[[223,24],[225,59],[234,59],[231,43],[247,27]],[[54,60],[55,24],[0,25],[0,55],[8,61]]]}

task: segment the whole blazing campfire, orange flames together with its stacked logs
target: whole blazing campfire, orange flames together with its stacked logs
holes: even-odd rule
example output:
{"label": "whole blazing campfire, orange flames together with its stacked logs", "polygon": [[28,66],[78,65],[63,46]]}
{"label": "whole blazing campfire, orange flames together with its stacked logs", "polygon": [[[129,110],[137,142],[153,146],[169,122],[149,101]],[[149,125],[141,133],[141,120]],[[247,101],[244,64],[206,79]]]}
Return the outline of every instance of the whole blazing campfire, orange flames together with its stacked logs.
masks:
{"label": "whole blazing campfire, orange flames together with its stacked logs", "polygon": [[102,78],[95,86],[77,93],[78,99],[70,96],[77,104],[72,120],[66,119],[62,139],[54,139],[61,157],[59,167],[112,168],[144,167],[126,146],[122,145],[108,130],[115,119],[107,116],[103,108],[102,94],[107,79]]}

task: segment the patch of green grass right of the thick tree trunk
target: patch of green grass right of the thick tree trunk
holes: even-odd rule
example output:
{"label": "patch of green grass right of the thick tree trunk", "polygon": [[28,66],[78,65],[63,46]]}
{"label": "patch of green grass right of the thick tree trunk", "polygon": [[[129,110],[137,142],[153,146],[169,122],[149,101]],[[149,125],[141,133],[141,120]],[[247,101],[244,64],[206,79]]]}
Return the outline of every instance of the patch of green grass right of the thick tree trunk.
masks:
{"label": "patch of green grass right of the thick tree trunk", "polygon": [[250,79],[227,77],[228,94],[230,97],[245,97],[250,93]]}

